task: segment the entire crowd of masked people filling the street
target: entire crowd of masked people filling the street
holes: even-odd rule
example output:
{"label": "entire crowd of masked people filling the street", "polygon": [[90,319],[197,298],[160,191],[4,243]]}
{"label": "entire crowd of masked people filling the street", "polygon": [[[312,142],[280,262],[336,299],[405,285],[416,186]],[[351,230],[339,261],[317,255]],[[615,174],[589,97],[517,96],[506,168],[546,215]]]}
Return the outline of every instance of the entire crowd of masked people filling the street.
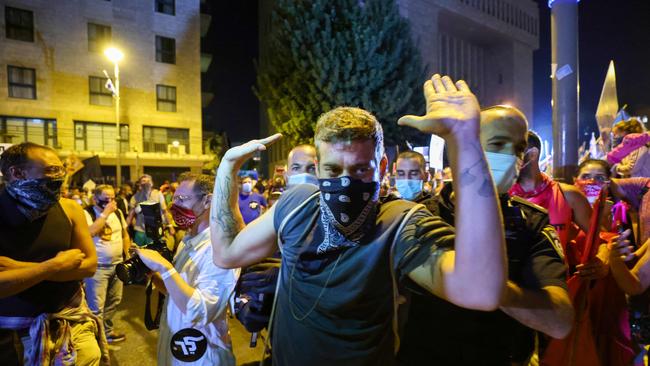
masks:
{"label": "entire crowd of masked people filling the street", "polygon": [[403,151],[389,179],[381,124],[354,107],[323,114],[314,145],[266,179],[242,166],[280,135],[158,189],[148,175],[66,187],[54,150],[8,148],[2,364],[109,364],[130,283],[165,295],[146,319],[160,365],[235,365],[231,321],[262,331],[275,365],[647,364],[643,124],[617,124],[606,160],[560,181],[517,108],[480,109],[440,75],[424,96],[425,115],[398,123],[445,139],[444,172]]}

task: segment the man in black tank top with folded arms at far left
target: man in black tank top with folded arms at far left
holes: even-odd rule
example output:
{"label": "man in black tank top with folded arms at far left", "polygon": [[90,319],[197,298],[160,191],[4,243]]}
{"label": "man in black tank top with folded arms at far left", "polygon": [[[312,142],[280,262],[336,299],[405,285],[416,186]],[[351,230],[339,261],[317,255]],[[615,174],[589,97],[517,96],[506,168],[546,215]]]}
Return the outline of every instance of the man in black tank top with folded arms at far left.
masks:
{"label": "man in black tank top with folded arms at far left", "polygon": [[17,335],[23,346],[4,343],[3,365],[16,352],[27,365],[108,363],[102,324],[81,286],[95,273],[95,246],[83,209],[60,197],[61,160],[52,148],[25,142],[5,150],[0,171],[7,181],[0,191],[0,334]]}

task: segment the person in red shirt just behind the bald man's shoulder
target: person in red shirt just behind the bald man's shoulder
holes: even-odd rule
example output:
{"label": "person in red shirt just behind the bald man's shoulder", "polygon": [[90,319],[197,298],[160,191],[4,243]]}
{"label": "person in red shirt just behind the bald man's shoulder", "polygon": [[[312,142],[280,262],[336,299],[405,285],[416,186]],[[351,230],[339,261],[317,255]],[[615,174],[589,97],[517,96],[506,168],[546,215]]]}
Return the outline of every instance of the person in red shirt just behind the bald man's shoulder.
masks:
{"label": "person in red shirt just behind the bald man's shoulder", "polygon": [[508,193],[510,196],[519,196],[548,210],[551,225],[555,227],[562,248],[566,252],[567,245],[578,234],[573,230],[573,223],[585,233],[589,231],[591,206],[577,187],[556,182],[539,170],[541,145],[539,136],[528,131],[524,167]]}

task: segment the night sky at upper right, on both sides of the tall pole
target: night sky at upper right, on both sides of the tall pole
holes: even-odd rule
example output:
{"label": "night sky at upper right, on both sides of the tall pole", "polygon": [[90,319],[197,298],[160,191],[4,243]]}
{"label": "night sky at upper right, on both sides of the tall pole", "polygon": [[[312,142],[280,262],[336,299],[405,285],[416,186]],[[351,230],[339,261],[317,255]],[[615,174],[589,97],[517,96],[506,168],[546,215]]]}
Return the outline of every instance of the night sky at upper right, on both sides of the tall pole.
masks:
{"label": "night sky at upper right, on both sides of the tall pole", "polygon": [[[535,129],[550,139],[551,25],[546,0],[540,5],[540,48],[534,53]],[[616,67],[618,101],[631,115],[650,116],[650,2],[582,0],[579,9],[580,138],[597,131],[596,108],[610,60]]]}

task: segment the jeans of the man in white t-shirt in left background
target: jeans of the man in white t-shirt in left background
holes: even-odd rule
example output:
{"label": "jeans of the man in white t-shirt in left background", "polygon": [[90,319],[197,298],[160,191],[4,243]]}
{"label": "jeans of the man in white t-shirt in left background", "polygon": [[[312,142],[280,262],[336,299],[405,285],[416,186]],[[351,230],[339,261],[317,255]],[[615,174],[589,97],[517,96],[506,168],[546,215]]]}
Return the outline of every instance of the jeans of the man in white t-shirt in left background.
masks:
{"label": "jeans of the man in white t-shirt in left background", "polygon": [[117,278],[115,265],[97,265],[92,277],[84,280],[86,302],[90,310],[104,321],[106,334],[113,331],[113,315],[122,301],[122,281]]}

